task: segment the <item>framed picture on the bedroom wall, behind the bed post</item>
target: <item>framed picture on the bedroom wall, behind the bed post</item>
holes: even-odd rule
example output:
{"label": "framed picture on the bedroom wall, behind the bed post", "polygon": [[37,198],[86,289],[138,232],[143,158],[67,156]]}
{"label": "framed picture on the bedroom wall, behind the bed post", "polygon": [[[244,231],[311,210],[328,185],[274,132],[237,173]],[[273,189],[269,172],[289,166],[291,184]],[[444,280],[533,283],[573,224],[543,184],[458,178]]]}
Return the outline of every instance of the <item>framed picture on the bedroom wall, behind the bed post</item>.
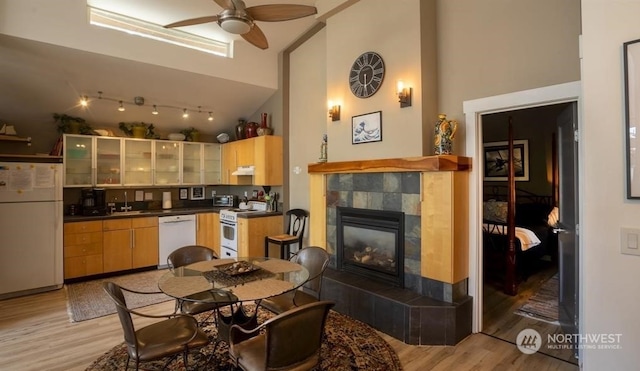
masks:
{"label": "framed picture on the bedroom wall, behind the bed post", "polygon": [[[506,181],[509,171],[509,143],[491,142],[484,144],[484,180]],[[513,141],[513,164],[516,181],[529,180],[529,141]]]}

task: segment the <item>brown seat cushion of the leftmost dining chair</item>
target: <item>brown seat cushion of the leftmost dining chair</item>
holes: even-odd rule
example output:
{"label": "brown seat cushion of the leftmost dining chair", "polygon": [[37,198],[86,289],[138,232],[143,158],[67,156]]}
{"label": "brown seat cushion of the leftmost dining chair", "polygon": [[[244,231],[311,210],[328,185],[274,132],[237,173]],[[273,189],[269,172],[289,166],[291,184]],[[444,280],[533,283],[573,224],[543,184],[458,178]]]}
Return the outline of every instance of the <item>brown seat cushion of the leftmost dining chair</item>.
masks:
{"label": "brown seat cushion of the leftmost dining chair", "polygon": [[[194,332],[196,336],[189,341]],[[138,357],[141,361],[150,361],[180,353],[185,350],[185,344],[189,348],[199,348],[209,343],[207,335],[198,329],[192,319],[187,317],[174,317],[151,324],[136,331],[136,335],[138,338]],[[132,358],[135,359],[135,355]]]}

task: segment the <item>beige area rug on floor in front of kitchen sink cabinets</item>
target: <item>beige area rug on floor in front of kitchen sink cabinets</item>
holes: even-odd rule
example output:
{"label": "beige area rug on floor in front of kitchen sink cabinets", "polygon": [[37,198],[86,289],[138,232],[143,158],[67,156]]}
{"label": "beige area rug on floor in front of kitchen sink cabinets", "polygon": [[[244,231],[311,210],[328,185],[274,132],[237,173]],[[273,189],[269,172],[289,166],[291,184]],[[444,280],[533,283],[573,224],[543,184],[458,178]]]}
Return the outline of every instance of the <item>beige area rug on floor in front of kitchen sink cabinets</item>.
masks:
{"label": "beige area rug on floor in front of kitchen sink cabinets", "polygon": [[[166,270],[152,270],[65,285],[70,321],[86,321],[116,312],[116,305],[102,288],[103,282],[112,281],[119,286],[136,291],[158,292],[158,279],[165,272]],[[125,292],[125,300],[129,308],[140,308],[173,299],[162,293],[133,295]]]}

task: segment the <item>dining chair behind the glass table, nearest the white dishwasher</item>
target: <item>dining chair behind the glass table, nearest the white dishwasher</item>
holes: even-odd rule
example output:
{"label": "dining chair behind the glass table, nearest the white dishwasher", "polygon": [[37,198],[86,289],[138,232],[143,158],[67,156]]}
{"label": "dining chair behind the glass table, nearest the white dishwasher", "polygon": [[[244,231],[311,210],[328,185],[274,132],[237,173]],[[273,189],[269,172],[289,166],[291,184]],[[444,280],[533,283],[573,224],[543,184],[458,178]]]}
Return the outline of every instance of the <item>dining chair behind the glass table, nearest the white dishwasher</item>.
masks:
{"label": "dining chair behind the glass table, nearest the white dishwasher", "polygon": [[[218,259],[218,255],[210,248],[201,245],[188,245],[180,247],[171,252],[171,254],[169,254],[169,256],[167,257],[167,265],[169,266],[169,269],[173,270],[192,263],[213,259]],[[218,304],[215,303],[202,303],[197,301],[185,301],[176,299],[176,311],[185,314],[196,315],[214,311],[217,308]],[[213,312],[207,318],[205,318],[205,321],[212,314]]]}

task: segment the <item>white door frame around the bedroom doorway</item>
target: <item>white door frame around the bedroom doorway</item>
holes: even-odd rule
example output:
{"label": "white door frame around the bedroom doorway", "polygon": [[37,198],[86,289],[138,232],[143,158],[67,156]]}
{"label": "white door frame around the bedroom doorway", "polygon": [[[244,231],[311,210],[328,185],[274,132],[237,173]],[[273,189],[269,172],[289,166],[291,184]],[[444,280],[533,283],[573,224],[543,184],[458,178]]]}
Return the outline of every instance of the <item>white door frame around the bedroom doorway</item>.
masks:
{"label": "white door frame around the bedroom doorway", "polygon": [[[482,115],[513,111],[550,104],[578,102],[578,122],[582,119],[580,81],[524,90],[465,101],[462,104],[465,115],[465,154],[472,158],[469,177],[469,295],[473,296],[474,333],[482,331]],[[578,125],[578,127],[582,127]],[[578,179],[580,187],[580,179]]]}

